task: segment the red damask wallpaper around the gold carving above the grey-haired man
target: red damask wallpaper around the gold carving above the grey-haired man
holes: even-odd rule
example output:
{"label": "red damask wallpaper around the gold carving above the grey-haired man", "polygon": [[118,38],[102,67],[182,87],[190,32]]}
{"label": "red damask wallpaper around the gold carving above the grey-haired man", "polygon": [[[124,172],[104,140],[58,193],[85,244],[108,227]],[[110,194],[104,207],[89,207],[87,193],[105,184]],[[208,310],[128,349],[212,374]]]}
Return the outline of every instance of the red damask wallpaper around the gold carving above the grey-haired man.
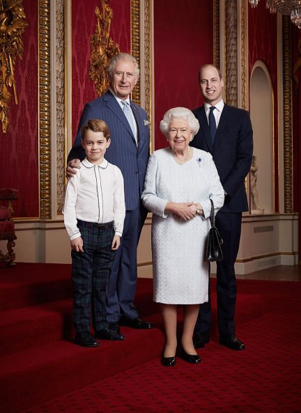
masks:
{"label": "red damask wallpaper around the gold carving above the grey-haired man", "polygon": [[[97,98],[94,83],[88,76],[91,56],[91,35],[95,33],[95,8],[100,0],[72,1],[72,141],[75,139],[84,105]],[[130,53],[130,0],[111,0],[113,19],[111,38]]]}

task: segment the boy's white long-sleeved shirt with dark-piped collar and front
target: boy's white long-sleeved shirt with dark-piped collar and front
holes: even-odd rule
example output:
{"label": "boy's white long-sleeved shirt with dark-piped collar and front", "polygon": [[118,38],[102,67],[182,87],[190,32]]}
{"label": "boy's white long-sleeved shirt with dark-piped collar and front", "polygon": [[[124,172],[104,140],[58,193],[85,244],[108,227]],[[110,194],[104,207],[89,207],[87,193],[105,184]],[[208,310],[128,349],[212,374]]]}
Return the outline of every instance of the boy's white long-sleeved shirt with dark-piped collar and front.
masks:
{"label": "boy's white long-sleeved shirt with dark-piped collar and front", "polygon": [[123,233],[125,197],[123,176],[118,166],[106,159],[95,165],[85,158],[65,191],[64,222],[70,240],[80,237],[77,219],[105,224],[114,222],[116,235]]}

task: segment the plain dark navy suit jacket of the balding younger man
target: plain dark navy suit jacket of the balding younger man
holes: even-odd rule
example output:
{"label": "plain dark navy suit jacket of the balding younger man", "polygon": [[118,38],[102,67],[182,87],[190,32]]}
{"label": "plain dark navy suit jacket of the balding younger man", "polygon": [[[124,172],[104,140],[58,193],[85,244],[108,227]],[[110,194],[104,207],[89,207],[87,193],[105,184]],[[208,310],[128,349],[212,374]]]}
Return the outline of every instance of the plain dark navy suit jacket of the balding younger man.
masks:
{"label": "plain dark navy suit jacket of the balding younger man", "polygon": [[205,108],[193,111],[200,129],[191,146],[213,155],[219,179],[228,194],[220,212],[248,211],[245,177],[249,173],[253,153],[253,130],[249,112],[224,105],[215,135],[211,140]]}

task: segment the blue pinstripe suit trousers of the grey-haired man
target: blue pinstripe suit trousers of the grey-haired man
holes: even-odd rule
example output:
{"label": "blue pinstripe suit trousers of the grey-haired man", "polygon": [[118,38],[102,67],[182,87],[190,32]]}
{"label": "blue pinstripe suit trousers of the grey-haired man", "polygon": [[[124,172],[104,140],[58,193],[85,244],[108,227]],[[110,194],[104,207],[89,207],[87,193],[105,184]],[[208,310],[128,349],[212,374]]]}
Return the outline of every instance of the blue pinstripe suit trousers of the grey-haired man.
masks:
{"label": "blue pinstripe suit trousers of the grey-haired man", "polygon": [[117,250],[107,286],[107,320],[118,322],[121,315],[137,318],[134,296],[137,288],[137,245],[147,211],[139,203],[125,212],[121,246]]}

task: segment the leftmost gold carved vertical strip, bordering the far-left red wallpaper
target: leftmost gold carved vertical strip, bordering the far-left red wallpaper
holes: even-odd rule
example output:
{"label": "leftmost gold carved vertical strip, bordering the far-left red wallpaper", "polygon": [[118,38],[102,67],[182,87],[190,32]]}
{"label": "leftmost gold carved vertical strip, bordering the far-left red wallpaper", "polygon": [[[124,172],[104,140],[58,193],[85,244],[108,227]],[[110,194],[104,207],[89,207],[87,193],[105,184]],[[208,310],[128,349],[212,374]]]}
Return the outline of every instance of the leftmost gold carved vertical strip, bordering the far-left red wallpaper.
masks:
{"label": "leftmost gold carved vertical strip, bordering the far-left red wallpaper", "polygon": [[50,0],[39,0],[38,29],[40,218],[51,219]]}

